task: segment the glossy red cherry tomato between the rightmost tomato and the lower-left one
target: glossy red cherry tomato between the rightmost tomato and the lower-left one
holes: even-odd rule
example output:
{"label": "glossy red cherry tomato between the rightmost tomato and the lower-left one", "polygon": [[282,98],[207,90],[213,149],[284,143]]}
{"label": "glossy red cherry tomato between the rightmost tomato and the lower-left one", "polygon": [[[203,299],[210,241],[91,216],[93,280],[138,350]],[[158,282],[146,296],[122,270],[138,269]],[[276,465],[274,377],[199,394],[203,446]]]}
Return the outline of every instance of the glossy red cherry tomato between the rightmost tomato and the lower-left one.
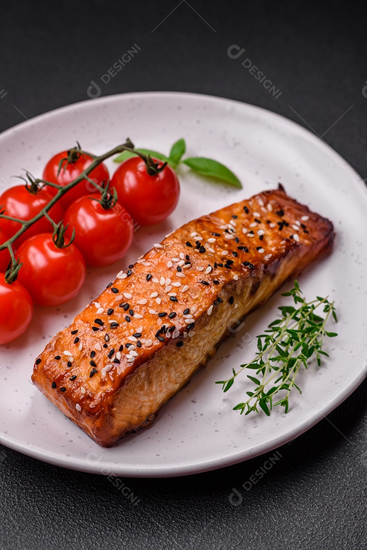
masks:
{"label": "glossy red cherry tomato between the rightmost tomato and the lower-left one", "polygon": [[66,237],[75,228],[74,243],[88,266],[107,266],[123,258],[129,250],[134,233],[129,212],[116,202],[106,210],[89,195],[69,206],[64,224],[69,224]]}

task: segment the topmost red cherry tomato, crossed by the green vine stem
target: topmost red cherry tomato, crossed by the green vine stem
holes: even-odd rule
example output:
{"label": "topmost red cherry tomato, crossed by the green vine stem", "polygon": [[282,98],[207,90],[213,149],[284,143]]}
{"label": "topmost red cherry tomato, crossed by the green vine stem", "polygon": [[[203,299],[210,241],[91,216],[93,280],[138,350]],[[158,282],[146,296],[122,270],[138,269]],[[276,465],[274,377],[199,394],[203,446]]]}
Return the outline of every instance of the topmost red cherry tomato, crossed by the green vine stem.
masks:
{"label": "topmost red cherry tomato, crossed by the green vine stem", "polygon": [[[47,182],[57,183],[58,185],[62,186],[68,185],[69,183],[73,182],[74,179],[76,179],[81,174],[81,172],[88,168],[88,166],[90,166],[93,161],[93,158],[90,155],[81,153],[79,157],[76,158],[76,160],[74,160],[73,162],[64,162],[59,175],[57,175],[60,161],[63,158],[67,157],[68,151],[58,153],[58,155],[52,157],[46,164],[45,169],[43,170],[42,179],[45,179]],[[97,168],[94,168],[94,170],[88,175],[88,178],[92,179],[93,182],[98,183],[98,185],[102,186],[103,182],[109,179],[109,173],[105,165],[102,163],[99,164]],[[45,189],[47,189],[48,192],[52,195],[55,195],[57,193],[57,189],[54,187],[46,186]],[[70,191],[68,191],[68,193],[66,193],[60,199],[60,202],[66,210],[66,208],[68,208],[74,201],[84,195],[94,193],[95,190],[96,189],[93,187],[93,185],[84,179],[73,189],[70,189]]]}

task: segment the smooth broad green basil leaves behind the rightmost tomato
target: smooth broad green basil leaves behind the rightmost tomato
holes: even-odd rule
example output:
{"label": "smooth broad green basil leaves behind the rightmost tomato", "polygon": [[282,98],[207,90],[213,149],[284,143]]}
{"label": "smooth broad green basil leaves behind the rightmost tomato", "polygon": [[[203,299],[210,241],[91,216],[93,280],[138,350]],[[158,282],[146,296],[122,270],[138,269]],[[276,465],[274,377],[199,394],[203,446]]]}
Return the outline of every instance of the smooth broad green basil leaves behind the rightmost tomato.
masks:
{"label": "smooth broad green basil leaves behind the rightmost tomato", "polygon": [[166,162],[174,170],[176,170],[180,164],[186,164],[186,166],[191,168],[191,170],[197,174],[203,175],[207,178],[220,180],[221,182],[234,185],[240,189],[242,188],[242,184],[236,174],[233,174],[233,172],[224,166],[224,164],[214,161],[212,158],[206,157],[189,157],[182,160],[182,156],[184,156],[185,152],[186,142],[181,138],[173,144],[168,156],[165,156],[158,151],[151,151],[150,149],[135,149],[135,152],[124,151],[121,155],[114,158],[114,161],[123,162],[126,161],[127,158],[141,153],[142,155],[152,156],[157,158],[159,161]]}

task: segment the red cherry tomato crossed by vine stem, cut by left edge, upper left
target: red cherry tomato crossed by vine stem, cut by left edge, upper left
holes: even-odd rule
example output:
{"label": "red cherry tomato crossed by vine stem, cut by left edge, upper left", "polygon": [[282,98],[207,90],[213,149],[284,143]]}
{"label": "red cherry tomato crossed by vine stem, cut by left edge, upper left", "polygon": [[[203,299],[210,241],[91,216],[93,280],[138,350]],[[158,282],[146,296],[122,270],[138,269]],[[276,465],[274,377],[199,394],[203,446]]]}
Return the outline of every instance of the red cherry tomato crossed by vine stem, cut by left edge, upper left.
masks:
{"label": "red cherry tomato crossed by vine stem, cut by left edge, upper left", "polygon": [[[47,193],[45,189],[40,189],[37,193],[31,193],[25,185],[15,185],[10,187],[2,195],[0,195],[0,206],[5,210],[6,216],[23,219],[27,221],[34,218],[46,205],[51,201],[52,195]],[[59,223],[63,219],[64,208],[57,202],[49,211],[48,215],[54,222]],[[0,229],[4,233],[13,237],[13,235],[21,228],[20,223],[12,222],[9,219],[0,218]],[[52,226],[47,218],[41,218],[34,223],[23,235],[16,239],[16,245],[23,243],[26,239],[36,235],[37,233],[45,233],[51,231]]]}

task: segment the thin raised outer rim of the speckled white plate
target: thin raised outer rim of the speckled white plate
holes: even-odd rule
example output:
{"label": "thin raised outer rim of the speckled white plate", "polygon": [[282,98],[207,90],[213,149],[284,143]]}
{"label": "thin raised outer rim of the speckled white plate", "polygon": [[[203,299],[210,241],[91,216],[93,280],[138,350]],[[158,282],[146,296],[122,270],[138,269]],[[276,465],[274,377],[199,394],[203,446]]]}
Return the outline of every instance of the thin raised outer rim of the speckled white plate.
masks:
{"label": "thin raised outer rim of the speckled white plate", "polygon": [[[283,128],[287,129],[287,127],[292,131],[293,134],[298,133],[299,136],[310,142],[310,144],[313,145],[313,147],[316,147],[319,149],[321,153],[324,153],[327,157],[331,158],[331,160],[342,164],[344,171],[346,171],[347,175],[349,175],[349,178],[353,180],[353,182],[356,184],[356,188],[353,189],[354,193],[359,194],[360,201],[365,201],[366,207],[367,207],[367,197],[366,194],[362,191],[362,186],[364,185],[364,180],[360,177],[360,175],[355,172],[355,170],[350,166],[350,164],[347,163],[341,157],[336,151],[332,149],[329,145],[327,145],[324,141],[318,140],[315,142],[315,135],[310,132],[309,130],[303,128],[301,125],[297,124],[296,122],[293,122],[292,120],[283,117],[280,114],[274,113],[272,111],[269,111],[268,109],[264,109],[262,107],[257,107],[254,105],[251,105],[249,103],[244,103],[241,101],[236,100],[230,100],[223,97],[218,96],[210,96],[205,94],[194,94],[190,92],[167,92],[167,91],[154,91],[154,92],[129,92],[126,94],[116,94],[112,96],[104,96],[99,97],[97,99],[92,100],[93,102],[96,102],[98,104],[106,103],[106,102],[118,102],[121,100],[121,98],[129,99],[138,99],[138,98],[163,98],[163,97],[175,97],[177,98],[177,101],[180,100],[180,98],[197,98],[198,100],[212,102],[212,103],[221,103],[222,105],[225,103],[228,106],[233,106],[236,108],[243,108],[247,109],[249,112],[258,113],[260,116],[266,116],[269,119],[269,122],[271,120],[274,120],[275,123],[282,125]],[[35,125],[40,120],[45,120],[48,116],[52,116],[54,113],[63,114],[70,109],[83,109],[84,107],[90,106],[91,100],[71,103],[70,105],[66,105],[64,107],[60,107],[57,109],[53,109],[52,111],[48,111],[46,113],[42,113],[32,119],[26,120],[25,122],[22,122],[20,124],[15,125],[12,128],[9,128],[5,131],[3,131],[0,134],[0,143],[3,141],[6,141],[8,136],[12,135],[14,131],[22,130],[28,128],[30,125]],[[358,184],[360,185],[360,189],[357,190]],[[199,474],[201,472],[210,471],[219,469],[221,467],[230,466],[234,464],[238,464],[244,460],[248,460],[250,458],[255,458],[256,456],[259,456],[261,454],[264,454],[266,452],[270,452],[271,450],[274,450],[277,447],[281,447],[282,445],[289,443],[293,441],[293,439],[296,439],[297,437],[301,436],[303,433],[305,433],[307,430],[312,428],[316,423],[318,423],[320,420],[325,418],[328,414],[330,414],[331,411],[333,411],[338,405],[340,405],[344,400],[346,400],[349,395],[351,395],[354,390],[359,386],[360,383],[364,380],[364,378],[367,376],[367,368],[364,367],[364,365],[361,366],[360,371],[357,373],[357,375],[350,381],[347,386],[342,388],[340,392],[328,403],[326,403],[324,406],[322,406],[316,414],[311,414],[307,418],[305,418],[302,422],[299,422],[296,427],[292,430],[288,430],[285,434],[280,434],[279,436],[274,436],[271,439],[268,439],[266,442],[259,443],[258,445],[254,445],[254,447],[247,449],[246,451],[239,450],[236,453],[233,453],[230,456],[227,456],[226,458],[215,458],[215,459],[209,459],[209,460],[202,460],[200,463],[196,463],[194,461],[188,461],[184,465],[180,465],[179,467],[174,466],[144,466],[144,467],[126,467],[123,465],[123,467],[116,468],[113,470],[113,467],[110,467],[109,473],[114,472],[116,475],[121,475],[125,477],[176,477],[176,476],[185,476],[190,474]],[[9,447],[11,449],[14,449],[20,453],[29,455],[33,458],[36,458],[38,460],[41,460],[43,462],[46,462],[48,464],[53,464],[56,466],[62,466],[66,469],[71,470],[77,470],[77,471],[84,471],[84,472],[90,472],[94,474],[103,474],[101,472],[101,466],[96,465],[95,467],[93,464],[88,464],[86,466],[86,463],[81,463],[79,460],[73,461],[71,457],[66,458],[63,455],[60,454],[52,454],[50,452],[44,452],[40,449],[32,448],[30,445],[26,445],[21,442],[17,442],[12,440],[9,437],[4,437],[3,434],[0,433],[0,443],[5,445],[6,447]],[[103,454],[103,448],[102,454]],[[98,466],[98,467],[97,467]]]}

